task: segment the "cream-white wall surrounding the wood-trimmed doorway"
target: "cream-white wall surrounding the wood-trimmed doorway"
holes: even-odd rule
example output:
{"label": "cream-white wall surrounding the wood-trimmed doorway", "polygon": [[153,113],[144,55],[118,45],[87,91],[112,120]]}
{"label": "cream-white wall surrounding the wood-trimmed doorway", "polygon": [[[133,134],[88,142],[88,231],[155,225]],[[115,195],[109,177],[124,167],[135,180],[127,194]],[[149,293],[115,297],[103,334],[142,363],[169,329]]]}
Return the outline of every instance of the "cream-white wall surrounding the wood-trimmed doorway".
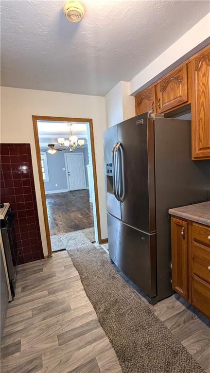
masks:
{"label": "cream-white wall surrounding the wood-trimmed doorway", "polygon": [[107,225],[103,161],[103,132],[106,129],[105,98],[100,96],[1,87],[1,142],[28,142],[31,144],[42,245],[44,255],[47,255],[32,115],[92,118],[101,232],[102,238],[106,238]]}

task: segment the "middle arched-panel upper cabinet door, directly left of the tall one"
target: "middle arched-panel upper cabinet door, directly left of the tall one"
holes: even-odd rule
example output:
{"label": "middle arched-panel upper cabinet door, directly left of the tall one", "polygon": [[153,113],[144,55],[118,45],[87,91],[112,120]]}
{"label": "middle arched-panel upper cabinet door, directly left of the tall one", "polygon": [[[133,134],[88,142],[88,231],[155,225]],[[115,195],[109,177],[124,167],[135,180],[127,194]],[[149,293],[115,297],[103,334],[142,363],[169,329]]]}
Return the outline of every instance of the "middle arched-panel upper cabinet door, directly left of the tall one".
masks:
{"label": "middle arched-panel upper cabinet door, directly left of the tall one", "polygon": [[157,113],[188,102],[187,64],[170,71],[156,85]]}

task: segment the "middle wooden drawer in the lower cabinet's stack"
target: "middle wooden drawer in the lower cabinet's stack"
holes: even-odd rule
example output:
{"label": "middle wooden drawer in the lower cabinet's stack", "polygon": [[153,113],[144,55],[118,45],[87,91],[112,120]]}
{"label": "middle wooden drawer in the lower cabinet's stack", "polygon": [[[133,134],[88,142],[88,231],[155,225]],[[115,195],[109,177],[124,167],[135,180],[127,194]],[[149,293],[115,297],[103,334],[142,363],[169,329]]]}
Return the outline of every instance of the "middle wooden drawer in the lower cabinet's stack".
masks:
{"label": "middle wooden drawer in the lower cabinet's stack", "polygon": [[192,245],[192,272],[210,283],[210,248],[197,242]]}

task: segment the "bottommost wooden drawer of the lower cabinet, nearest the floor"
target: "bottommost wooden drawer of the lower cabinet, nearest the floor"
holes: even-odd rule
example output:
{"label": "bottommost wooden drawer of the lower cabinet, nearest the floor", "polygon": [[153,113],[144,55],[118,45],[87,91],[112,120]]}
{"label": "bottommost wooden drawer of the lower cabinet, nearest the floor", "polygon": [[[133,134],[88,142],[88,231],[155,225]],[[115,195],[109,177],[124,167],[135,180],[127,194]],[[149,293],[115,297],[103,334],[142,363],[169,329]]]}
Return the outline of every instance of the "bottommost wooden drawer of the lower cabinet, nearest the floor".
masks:
{"label": "bottommost wooden drawer of the lower cabinet, nearest the floor", "polygon": [[192,305],[210,318],[210,284],[192,275]]}

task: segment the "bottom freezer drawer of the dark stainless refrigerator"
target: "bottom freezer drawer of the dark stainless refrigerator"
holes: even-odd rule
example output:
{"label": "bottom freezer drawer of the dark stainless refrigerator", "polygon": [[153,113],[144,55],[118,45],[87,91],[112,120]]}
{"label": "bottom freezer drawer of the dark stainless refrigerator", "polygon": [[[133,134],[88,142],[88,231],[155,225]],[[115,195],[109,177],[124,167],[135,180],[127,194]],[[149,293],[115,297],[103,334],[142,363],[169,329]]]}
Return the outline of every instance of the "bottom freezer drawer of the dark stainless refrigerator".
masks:
{"label": "bottom freezer drawer of the dark stainless refrigerator", "polygon": [[107,214],[112,261],[149,297],[157,295],[156,234],[138,231]]}

